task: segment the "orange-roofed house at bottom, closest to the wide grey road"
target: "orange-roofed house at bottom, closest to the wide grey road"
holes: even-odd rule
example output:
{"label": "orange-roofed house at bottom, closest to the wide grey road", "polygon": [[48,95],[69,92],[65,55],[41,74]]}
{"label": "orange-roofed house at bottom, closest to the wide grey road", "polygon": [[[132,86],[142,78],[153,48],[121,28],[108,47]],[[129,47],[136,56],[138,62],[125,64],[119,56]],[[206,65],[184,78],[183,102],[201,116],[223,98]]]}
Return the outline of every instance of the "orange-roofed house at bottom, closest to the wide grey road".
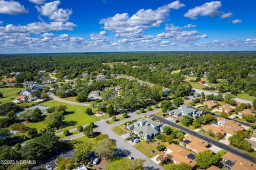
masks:
{"label": "orange-roofed house at bottom, closest to the wide grey road", "polygon": [[192,154],[189,150],[172,143],[171,145],[166,146],[167,152],[172,156],[172,162],[174,164],[186,163],[192,167],[196,168],[196,156]]}

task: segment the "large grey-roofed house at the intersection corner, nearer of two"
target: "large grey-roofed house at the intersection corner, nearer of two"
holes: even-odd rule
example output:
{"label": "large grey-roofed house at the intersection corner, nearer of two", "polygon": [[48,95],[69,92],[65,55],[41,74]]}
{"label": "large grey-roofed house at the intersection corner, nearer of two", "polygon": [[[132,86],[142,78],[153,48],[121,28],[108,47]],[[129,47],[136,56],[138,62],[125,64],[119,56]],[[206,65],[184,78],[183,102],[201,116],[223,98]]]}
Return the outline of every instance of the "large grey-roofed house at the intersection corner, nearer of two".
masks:
{"label": "large grey-roofed house at the intersection corner, nearer of two", "polygon": [[127,129],[133,130],[143,139],[150,140],[159,134],[161,126],[161,123],[150,120],[150,118],[140,118],[137,122],[127,124]]}

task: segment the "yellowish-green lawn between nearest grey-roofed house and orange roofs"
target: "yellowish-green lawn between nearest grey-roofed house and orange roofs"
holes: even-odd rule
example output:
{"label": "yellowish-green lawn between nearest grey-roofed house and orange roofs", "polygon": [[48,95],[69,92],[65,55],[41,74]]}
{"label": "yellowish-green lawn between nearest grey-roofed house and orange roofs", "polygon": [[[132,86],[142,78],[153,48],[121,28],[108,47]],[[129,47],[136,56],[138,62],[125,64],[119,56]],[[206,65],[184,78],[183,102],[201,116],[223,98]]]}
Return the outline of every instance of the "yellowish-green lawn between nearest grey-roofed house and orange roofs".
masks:
{"label": "yellowish-green lawn between nearest grey-roofed house and orange roofs", "polygon": [[[161,141],[157,141],[157,142],[153,142],[153,143],[146,143],[145,141],[140,141],[139,143],[137,143],[136,145],[134,145],[134,147],[136,149],[138,149],[139,151],[141,151],[144,155],[146,155],[149,158],[153,158],[154,156],[160,154],[161,151],[156,149],[157,143],[160,143],[160,145],[168,145],[168,142],[161,142]],[[152,150],[154,150],[155,152],[151,152]]]}

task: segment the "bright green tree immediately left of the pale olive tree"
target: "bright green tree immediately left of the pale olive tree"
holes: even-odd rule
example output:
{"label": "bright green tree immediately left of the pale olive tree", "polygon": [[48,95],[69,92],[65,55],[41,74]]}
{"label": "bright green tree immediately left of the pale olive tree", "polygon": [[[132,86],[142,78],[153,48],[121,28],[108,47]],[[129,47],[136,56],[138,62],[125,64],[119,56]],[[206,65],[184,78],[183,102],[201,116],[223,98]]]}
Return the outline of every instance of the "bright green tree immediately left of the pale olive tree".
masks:
{"label": "bright green tree immediately left of the pale olive tree", "polygon": [[92,149],[92,143],[90,142],[77,143],[75,145],[75,149],[76,150],[73,156],[75,157],[76,162],[81,162],[82,160],[89,158],[90,151]]}

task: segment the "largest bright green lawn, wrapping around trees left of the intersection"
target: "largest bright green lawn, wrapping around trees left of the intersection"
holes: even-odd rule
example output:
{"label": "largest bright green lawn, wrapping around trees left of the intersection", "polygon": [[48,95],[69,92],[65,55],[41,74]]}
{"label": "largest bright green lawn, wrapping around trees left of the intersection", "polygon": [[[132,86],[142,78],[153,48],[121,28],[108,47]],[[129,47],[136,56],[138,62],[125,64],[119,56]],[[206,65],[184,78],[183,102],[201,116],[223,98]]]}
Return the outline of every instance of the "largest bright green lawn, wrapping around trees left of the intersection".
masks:
{"label": "largest bright green lawn, wrapping around trees left of the intersection", "polygon": [[[84,113],[86,106],[77,106],[77,105],[69,105],[65,103],[60,103],[56,100],[46,101],[45,103],[39,104],[39,106],[45,107],[52,107],[52,106],[59,106],[59,105],[66,105],[68,107],[67,111],[68,114],[65,115],[65,128],[59,129],[57,132],[61,132],[63,130],[68,130],[72,128],[76,128],[79,125],[89,124],[91,122],[97,122],[101,119],[107,118],[107,116],[97,117],[95,115],[87,115]],[[44,121],[37,122],[37,123],[26,123],[26,126],[29,128],[37,128],[38,131],[46,128],[46,123]]]}

